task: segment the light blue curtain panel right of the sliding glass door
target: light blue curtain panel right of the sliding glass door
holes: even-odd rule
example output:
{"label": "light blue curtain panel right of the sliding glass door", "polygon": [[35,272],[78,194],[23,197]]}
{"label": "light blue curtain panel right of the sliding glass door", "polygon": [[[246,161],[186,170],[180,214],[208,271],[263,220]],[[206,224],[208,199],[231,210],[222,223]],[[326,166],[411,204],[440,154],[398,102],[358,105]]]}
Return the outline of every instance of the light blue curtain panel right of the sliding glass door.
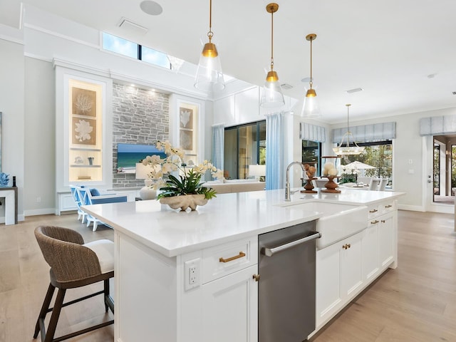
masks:
{"label": "light blue curtain panel right of the sliding glass door", "polygon": [[284,187],[284,113],[266,115],[266,190]]}

